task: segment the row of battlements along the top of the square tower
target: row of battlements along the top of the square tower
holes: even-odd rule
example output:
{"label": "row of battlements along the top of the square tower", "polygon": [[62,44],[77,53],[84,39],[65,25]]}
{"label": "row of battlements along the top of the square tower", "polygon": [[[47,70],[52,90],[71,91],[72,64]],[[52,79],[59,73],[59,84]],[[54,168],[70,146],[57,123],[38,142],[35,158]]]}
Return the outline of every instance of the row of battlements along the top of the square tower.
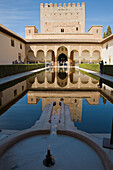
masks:
{"label": "row of battlements along the top of the square tower", "polygon": [[57,3],[55,3],[55,4],[53,4],[53,3],[50,3],[50,4],[48,4],[48,3],[45,3],[45,4],[43,4],[43,3],[41,3],[40,4],[40,7],[41,8],[44,8],[44,7],[84,7],[85,6],[85,2],[82,2],[82,4],[80,4],[80,3],[77,3],[77,5],[75,4],[75,3],[68,3],[68,4],[66,4],[66,3],[59,3],[58,5],[57,5]]}

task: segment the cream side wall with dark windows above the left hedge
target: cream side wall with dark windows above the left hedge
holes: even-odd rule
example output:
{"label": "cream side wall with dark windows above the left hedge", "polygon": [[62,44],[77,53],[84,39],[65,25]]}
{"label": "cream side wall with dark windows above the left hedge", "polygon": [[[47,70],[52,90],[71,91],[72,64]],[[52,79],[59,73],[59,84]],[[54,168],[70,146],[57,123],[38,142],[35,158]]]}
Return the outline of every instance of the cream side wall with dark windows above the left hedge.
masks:
{"label": "cream side wall with dark windows above the left hedge", "polygon": [[[7,28],[4,29],[7,31]],[[25,43],[18,40],[13,36],[12,32],[8,33],[0,32],[0,64],[12,64],[13,61],[25,59]],[[18,36],[19,39],[22,39]]]}

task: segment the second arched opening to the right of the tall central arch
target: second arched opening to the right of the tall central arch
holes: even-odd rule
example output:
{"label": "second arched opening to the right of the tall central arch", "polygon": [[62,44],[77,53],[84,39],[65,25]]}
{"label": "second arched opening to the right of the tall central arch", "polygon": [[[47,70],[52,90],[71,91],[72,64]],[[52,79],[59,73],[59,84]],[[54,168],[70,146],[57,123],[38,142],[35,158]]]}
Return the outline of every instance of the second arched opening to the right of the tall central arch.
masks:
{"label": "second arched opening to the right of the tall central arch", "polygon": [[90,52],[88,50],[82,51],[81,62],[90,63]]}

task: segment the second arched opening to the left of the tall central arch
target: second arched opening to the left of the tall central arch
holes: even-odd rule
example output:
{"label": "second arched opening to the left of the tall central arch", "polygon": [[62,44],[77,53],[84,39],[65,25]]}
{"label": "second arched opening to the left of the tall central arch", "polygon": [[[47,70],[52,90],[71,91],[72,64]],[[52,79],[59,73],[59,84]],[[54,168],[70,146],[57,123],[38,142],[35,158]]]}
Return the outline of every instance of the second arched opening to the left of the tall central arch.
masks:
{"label": "second arched opening to the left of the tall central arch", "polygon": [[45,63],[45,57],[44,57],[44,51],[43,50],[37,51],[36,62],[37,63]]}

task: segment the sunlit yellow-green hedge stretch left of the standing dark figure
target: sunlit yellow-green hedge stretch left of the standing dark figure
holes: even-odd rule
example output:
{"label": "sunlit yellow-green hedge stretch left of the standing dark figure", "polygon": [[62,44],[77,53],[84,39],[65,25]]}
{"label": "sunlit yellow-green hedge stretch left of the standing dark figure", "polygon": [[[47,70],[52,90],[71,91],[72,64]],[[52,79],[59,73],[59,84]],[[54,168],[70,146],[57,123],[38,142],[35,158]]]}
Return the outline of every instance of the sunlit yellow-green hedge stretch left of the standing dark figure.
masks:
{"label": "sunlit yellow-green hedge stretch left of the standing dark figure", "polygon": [[86,68],[88,70],[100,72],[99,64],[79,64],[79,67]]}

